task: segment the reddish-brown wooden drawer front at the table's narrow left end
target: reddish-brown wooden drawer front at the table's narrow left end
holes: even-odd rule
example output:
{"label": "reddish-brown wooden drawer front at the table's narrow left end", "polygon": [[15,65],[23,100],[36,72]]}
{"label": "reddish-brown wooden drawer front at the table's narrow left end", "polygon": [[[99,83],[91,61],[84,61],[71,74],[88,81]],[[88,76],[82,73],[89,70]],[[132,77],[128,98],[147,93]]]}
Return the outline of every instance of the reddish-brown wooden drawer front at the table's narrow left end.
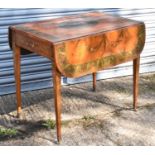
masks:
{"label": "reddish-brown wooden drawer front at the table's narrow left end", "polygon": [[53,49],[51,44],[48,42],[20,32],[15,33],[15,42],[19,47],[26,50],[37,53],[49,59],[53,58]]}

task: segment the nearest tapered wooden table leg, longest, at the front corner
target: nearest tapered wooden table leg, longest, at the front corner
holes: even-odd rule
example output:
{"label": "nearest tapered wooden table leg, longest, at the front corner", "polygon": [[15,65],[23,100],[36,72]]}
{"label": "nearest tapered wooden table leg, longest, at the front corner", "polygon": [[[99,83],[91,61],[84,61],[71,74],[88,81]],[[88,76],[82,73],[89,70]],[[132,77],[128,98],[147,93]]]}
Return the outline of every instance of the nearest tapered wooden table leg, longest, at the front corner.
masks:
{"label": "nearest tapered wooden table leg, longest, at the front corner", "polygon": [[54,101],[55,115],[57,127],[57,140],[61,141],[61,74],[53,64],[53,86],[54,86]]}

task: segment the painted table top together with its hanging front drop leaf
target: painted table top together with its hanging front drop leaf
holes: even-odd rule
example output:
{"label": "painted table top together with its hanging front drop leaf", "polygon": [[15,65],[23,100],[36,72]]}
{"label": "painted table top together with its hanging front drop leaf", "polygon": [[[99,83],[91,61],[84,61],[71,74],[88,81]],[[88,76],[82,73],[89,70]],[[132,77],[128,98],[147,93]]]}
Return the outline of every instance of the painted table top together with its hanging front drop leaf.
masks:
{"label": "painted table top together with its hanging front drop leaf", "polygon": [[143,22],[101,12],[25,23],[11,26],[10,30],[48,42],[52,50],[45,47],[44,50],[51,52],[58,70],[67,77],[83,76],[133,60],[145,43]]}

